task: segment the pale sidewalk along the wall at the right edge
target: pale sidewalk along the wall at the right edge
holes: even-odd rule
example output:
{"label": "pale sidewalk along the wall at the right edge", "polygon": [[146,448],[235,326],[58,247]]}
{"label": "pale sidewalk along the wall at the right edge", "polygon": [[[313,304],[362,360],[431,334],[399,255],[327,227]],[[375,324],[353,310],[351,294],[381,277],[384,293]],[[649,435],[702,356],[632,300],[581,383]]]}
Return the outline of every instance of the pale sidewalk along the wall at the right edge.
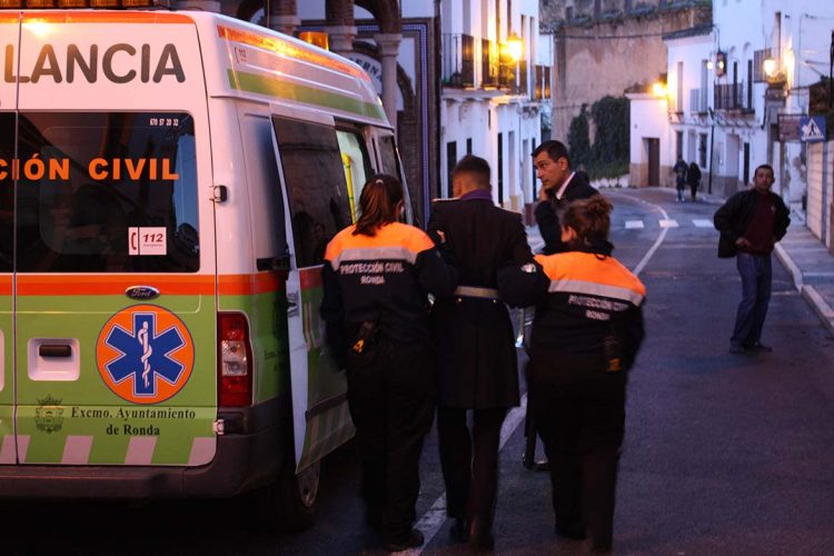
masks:
{"label": "pale sidewalk along the wall at the right edge", "polygon": [[775,252],[802,297],[834,335],[834,255],[795,212],[791,214],[787,235],[776,244]]}

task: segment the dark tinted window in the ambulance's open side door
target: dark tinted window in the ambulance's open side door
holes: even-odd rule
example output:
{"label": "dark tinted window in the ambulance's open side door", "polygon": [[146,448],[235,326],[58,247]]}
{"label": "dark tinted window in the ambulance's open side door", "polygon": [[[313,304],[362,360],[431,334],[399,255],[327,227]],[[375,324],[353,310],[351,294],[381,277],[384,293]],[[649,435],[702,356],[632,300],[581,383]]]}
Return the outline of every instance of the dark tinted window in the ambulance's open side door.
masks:
{"label": "dark tinted window in the ambulance's open side door", "polygon": [[336,130],[272,117],[292,218],[296,265],[320,265],[325,248],[350,224],[345,169]]}

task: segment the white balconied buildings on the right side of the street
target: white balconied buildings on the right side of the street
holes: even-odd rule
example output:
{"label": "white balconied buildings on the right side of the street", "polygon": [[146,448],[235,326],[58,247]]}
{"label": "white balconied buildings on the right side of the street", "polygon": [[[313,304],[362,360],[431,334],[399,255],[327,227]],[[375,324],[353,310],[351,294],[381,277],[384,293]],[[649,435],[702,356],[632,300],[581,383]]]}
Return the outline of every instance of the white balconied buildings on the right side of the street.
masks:
{"label": "white balconied buildings on the right side of the street", "polygon": [[[807,147],[790,128],[808,113],[810,87],[828,73],[832,29],[834,2],[715,0],[712,27],[665,37],[667,133],[661,133],[661,158],[669,165],[677,156],[696,161],[704,190],[719,195],[748,186],[754,169],[770,163],[774,189],[805,210]],[[642,137],[634,115],[632,121],[634,143]],[[633,146],[633,179],[635,166],[648,163],[641,156]],[[674,181],[669,171],[661,175],[662,183]]]}

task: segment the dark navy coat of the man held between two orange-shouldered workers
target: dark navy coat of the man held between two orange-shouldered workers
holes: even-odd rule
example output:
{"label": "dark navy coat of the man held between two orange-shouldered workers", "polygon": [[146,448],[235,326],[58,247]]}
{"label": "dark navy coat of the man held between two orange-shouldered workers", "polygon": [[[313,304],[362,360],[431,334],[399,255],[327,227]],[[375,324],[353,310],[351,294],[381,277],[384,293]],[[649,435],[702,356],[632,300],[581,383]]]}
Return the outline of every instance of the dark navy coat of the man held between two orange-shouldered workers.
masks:
{"label": "dark navy coat of the man held between two orange-shouldered workers", "polygon": [[[496,207],[486,191],[431,207],[429,235],[441,230],[455,256],[460,286],[492,289],[498,268],[533,259],[520,215]],[[438,353],[438,404],[454,408],[518,405],[515,337],[503,301],[438,297],[431,309]]]}

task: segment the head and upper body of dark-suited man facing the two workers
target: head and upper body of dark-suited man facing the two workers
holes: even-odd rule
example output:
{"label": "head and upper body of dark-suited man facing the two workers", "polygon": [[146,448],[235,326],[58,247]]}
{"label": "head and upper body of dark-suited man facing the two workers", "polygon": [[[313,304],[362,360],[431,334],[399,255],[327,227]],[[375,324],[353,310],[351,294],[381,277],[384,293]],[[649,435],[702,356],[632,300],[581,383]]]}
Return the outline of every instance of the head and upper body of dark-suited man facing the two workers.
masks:
{"label": "head and upper body of dark-suited man facing the two workers", "polygon": [[545,141],[533,151],[533,165],[536,177],[542,180],[536,206],[536,224],[542,239],[545,240],[545,255],[564,250],[559,214],[564,207],[576,199],[587,199],[597,195],[583,173],[570,170],[570,158],[567,148],[560,141]]}

